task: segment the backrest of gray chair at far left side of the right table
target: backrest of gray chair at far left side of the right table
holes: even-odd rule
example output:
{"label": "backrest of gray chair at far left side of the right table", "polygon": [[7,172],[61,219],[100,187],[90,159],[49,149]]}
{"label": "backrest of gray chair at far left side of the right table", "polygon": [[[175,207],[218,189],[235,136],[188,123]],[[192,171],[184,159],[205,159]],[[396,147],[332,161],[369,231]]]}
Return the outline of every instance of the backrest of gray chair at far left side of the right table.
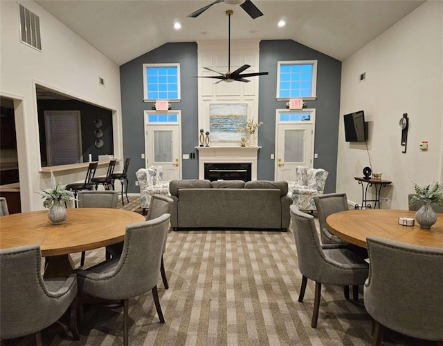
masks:
{"label": "backrest of gray chair at far left side of the right table", "polygon": [[329,233],[327,230],[326,218],[339,211],[349,210],[346,193],[327,193],[314,197],[316,204],[318,224],[320,225],[320,237],[323,244],[343,243],[343,240]]}

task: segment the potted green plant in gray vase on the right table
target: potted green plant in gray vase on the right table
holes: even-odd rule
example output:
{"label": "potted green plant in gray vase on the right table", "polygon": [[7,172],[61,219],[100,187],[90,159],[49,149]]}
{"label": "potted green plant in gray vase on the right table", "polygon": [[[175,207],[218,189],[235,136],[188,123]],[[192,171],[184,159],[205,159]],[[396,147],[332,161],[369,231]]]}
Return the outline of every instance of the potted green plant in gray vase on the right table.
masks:
{"label": "potted green plant in gray vase on the right table", "polygon": [[437,222],[437,215],[432,209],[432,204],[443,205],[443,183],[433,182],[425,186],[414,183],[415,195],[410,199],[410,204],[423,202],[423,205],[415,213],[415,220],[422,229],[430,229]]}

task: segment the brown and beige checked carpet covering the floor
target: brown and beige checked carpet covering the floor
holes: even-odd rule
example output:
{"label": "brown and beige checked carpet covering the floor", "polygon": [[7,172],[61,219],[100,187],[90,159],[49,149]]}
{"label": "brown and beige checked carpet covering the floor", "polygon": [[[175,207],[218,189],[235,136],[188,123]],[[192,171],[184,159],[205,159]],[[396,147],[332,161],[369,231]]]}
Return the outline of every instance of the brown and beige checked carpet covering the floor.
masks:
{"label": "brown and beige checked carpet covering the floor", "polygon": [[[125,209],[137,209],[136,199]],[[84,267],[104,258],[103,249],[87,251]],[[73,260],[78,267],[80,253]],[[129,345],[370,345],[372,323],[363,298],[345,300],[342,287],[323,286],[318,327],[311,328],[315,285],[309,280],[304,302],[298,302],[301,275],[292,229],[170,231],[164,260],[170,289],[160,276],[157,287],[165,324],[150,292],[130,299]],[[65,329],[42,331],[43,345],[122,345],[123,308],[85,309],[79,341]],[[387,331],[383,345],[434,344]]]}

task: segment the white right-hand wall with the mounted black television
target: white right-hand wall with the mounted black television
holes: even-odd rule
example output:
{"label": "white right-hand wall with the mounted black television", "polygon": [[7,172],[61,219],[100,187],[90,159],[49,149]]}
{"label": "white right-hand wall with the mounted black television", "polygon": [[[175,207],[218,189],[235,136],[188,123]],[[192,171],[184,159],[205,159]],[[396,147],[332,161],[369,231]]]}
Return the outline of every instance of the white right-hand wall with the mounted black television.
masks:
{"label": "white right-hand wall with the mounted black television", "polygon": [[[361,204],[362,177],[369,166],[365,144],[347,143],[343,115],[365,111],[370,122],[368,148],[372,171],[392,186],[381,191],[382,207],[407,209],[414,180],[443,180],[443,2],[427,1],[343,61],[338,136],[337,191]],[[359,75],[366,80],[359,82]],[[406,153],[400,145],[399,119],[408,113]],[[428,140],[428,151],[419,143]]]}

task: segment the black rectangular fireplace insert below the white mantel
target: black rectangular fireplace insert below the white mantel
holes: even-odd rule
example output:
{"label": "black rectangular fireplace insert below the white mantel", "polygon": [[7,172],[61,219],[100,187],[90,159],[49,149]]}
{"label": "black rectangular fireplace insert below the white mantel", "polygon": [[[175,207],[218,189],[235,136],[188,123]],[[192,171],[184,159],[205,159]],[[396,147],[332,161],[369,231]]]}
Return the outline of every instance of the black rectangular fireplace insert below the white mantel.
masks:
{"label": "black rectangular fireplace insert below the white mantel", "polygon": [[243,180],[251,181],[251,164],[243,163],[207,163],[205,166],[205,179],[214,180]]}

